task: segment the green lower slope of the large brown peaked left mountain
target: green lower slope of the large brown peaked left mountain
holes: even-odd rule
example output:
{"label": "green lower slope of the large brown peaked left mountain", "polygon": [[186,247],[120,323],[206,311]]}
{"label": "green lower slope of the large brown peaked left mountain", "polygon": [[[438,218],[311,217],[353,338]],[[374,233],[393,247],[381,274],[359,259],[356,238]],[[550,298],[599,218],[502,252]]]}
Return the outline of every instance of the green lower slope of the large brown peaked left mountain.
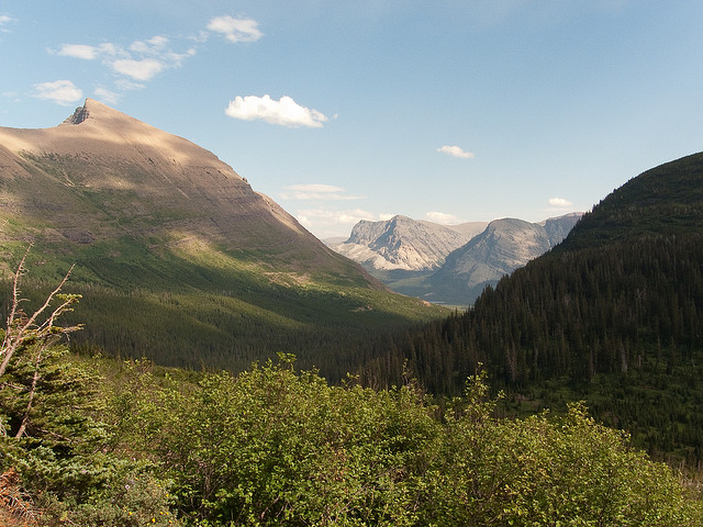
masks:
{"label": "green lower slope of the large brown peaked left mountain", "polygon": [[[37,244],[22,291],[30,299],[45,298],[72,261],[65,290],[83,298],[66,322],[86,325],[72,338],[77,347],[233,371],[279,351],[293,352],[301,366],[319,367],[331,379],[355,369],[355,355],[376,333],[448,313],[369,288],[355,273],[276,268],[264,250],[192,244],[170,251],[164,244],[152,248],[154,242],[122,237],[75,246],[68,254]],[[0,247],[11,261],[24,249],[19,242]],[[7,302],[9,293],[5,281],[0,300]]]}

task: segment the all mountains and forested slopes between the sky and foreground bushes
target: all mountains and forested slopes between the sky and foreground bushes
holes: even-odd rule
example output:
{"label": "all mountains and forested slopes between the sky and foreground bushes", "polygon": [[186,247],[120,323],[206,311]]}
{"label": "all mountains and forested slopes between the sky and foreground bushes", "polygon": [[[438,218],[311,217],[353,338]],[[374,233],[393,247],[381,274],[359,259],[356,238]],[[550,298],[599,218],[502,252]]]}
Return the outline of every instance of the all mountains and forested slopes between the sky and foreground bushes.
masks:
{"label": "all mountains and forested slopes between the sky and foreground bushes", "polygon": [[[484,368],[505,392],[499,412],[584,400],[636,447],[700,468],[703,154],[633,178],[580,220],[438,227],[399,216],[352,238],[377,276],[416,273],[398,290],[483,288],[462,313],[391,293],[212,153],[90,99],[52,128],[0,128],[0,273],[31,246],[31,309],[75,264],[77,351],[230,370],[294,354],[332,382],[412,375],[438,396]],[[5,280],[0,305],[11,291]]]}

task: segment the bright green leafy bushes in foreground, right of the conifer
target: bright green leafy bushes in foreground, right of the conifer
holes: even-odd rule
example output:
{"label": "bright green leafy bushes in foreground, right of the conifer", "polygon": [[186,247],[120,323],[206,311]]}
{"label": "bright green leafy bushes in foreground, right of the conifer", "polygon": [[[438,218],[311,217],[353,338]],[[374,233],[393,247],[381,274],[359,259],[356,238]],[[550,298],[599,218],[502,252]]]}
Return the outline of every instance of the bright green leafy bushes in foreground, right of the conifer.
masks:
{"label": "bright green leafy bushes in foreground, right of the conifer", "polygon": [[[443,423],[412,383],[331,386],[282,359],[236,377],[204,374],[197,388],[167,382],[152,392],[148,421],[158,422],[144,445],[174,481],[183,522],[693,526],[702,519],[701,503],[671,469],[596,424],[582,405],[558,418],[499,418],[481,374]],[[133,371],[140,382],[153,379]]]}

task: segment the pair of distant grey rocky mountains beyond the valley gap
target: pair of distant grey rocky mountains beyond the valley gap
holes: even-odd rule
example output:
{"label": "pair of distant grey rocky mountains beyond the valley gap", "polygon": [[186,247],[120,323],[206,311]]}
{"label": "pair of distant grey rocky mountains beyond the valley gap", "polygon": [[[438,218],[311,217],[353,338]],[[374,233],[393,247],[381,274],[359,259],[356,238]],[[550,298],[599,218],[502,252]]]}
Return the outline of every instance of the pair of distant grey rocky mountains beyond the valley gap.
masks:
{"label": "pair of distant grey rocky mountains beyond the valley gap", "polygon": [[571,231],[580,213],[529,223],[516,218],[438,225],[394,216],[361,221],[331,244],[394,291],[468,305],[489,284],[543,255]]}

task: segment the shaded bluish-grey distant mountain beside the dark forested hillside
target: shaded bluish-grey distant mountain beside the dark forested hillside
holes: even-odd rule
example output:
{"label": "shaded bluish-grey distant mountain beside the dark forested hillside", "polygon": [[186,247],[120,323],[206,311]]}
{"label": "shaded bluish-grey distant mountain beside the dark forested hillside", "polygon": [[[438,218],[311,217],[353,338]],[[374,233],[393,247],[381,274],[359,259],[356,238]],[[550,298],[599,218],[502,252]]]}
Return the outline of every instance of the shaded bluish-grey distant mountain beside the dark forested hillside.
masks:
{"label": "shaded bluish-grey distant mountain beside the dark forested hillside", "polygon": [[449,304],[471,304],[483,289],[523,267],[559,244],[581,214],[572,213],[528,223],[503,218],[450,253],[444,265],[428,279],[433,299]]}

